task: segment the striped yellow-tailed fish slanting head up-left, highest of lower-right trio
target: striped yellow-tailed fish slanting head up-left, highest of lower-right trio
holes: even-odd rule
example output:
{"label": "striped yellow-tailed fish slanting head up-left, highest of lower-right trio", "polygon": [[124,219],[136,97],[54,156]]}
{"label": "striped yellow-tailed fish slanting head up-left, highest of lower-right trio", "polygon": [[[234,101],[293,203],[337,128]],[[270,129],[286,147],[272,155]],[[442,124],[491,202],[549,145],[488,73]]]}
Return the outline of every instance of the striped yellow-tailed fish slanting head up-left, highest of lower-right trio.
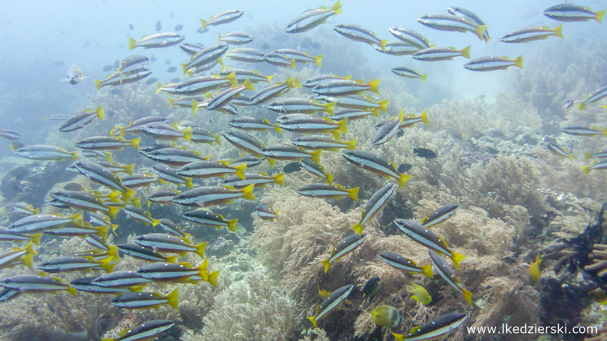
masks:
{"label": "striped yellow-tailed fish slanting head up-left, highest of lower-right trio", "polygon": [[424,247],[429,248],[435,253],[448,256],[453,260],[455,268],[459,269],[459,262],[466,258],[463,254],[452,251],[443,238],[436,236],[436,234],[432,233],[424,225],[421,225],[421,223],[409,219],[395,219],[394,223],[414,242],[424,245]]}

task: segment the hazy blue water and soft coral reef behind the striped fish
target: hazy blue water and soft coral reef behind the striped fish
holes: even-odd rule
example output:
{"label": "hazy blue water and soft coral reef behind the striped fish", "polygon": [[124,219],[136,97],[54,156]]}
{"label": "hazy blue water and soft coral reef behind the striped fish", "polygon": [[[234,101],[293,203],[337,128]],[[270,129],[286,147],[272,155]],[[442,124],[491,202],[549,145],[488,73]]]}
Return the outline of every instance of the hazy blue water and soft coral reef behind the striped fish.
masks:
{"label": "hazy blue water and soft coral reef behind the striped fish", "polygon": [[[78,150],[81,161],[107,161],[82,156],[83,148],[75,144],[92,136],[110,136],[115,125],[127,126],[148,116],[161,116],[168,119],[168,124],[200,127],[213,135],[236,130],[228,123],[240,117],[268,119],[276,124],[275,119],[282,113],[268,110],[268,103],[237,105],[235,115],[198,108],[192,116],[189,102],[183,107],[170,104],[169,108],[168,98],[178,96],[158,93],[158,84],[187,81],[189,76],[183,73],[180,64],[188,63],[192,56],[178,45],[145,50],[136,47],[129,51],[129,37],[140,39],[157,31],[177,32],[185,36],[183,42],[204,47],[217,44],[217,33],[222,36],[242,31],[253,36],[253,41],[231,45],[229,50],[254,48],[267,54],[288,48],[311,56],[322,54],[322,67],[314,62],[298,63],[294,69],[270,62],[248,63],[230,59],[228,54],[223,56],[226,70],[238,67],[259,71],[264,76],[273,76],[268,82],[271,84],[298,79],[305,85],[306,80],[321,74],[344,78],[351,75],[351,79],[361,80],[359,84],[365,85],[379,79],[378,91],[364,94],[370,96],[369,101],[388,100],[385,112],[376,110],[374,113],[379,117],[369,114],[347,121],[347,134],[341,134],[341,139],[356,139],[356,150],[370,151],[392,162],[396,173],[411,177],[401,188],[394,177],[364,170],[348,162],[340,151],[326,150],[320,156],[323,171],[332,174],[334,184],[359,190],[358,200],[348,195],[322,199],[298,193],[306,185],[325,182],[299,166],[294,171],[286,168],[300,160],[277,159],[274,167],[263,161],[247,171],[268,176],[285,171],[284,184],[274,181],[256,187],[255,201],[237,199],[212,207],[212,213],[226,220],[238,219],[231,231],[201,225],[182,216],[196,207],[175,203],[149,205],[147,196],[152,191],[188,190],[170,182],[163,184],[156,175],[145,191],[137,191],[141,205],[150,218],[169,219],[184,233],[191,234],[192,245],[208,242],[202,257],[180,254],[177,262],[188,262],[197,268],[208,257],[209,273],[219,271],[216,283],[178,281],[168,285],[151,283],[143,288],[161,296],[177,288],[177,309],[169,305],[123,309],[110,303],[114,295],[27,293],[0,303],[0,340],[120,340],[124,329],[158,319],[175,322],[173,328],[158,335],[163,341],[394,340],[392,333],[406,336],[412,327],[451,313],[466,314],[466,319],[447,334],[448,340],[607,340],[607,307],[601,304],[607,301],[607,230],[603,229],[602,214],[607,200],[604,171],[607,166],[590,172],[583,168],[595,161],[594,156],[588,160],[590,156],[585,153],[606,148],[603,130],[607,128],[607,92],[597,94],[603,97],[582,107],[583,110],[577,107],[589,94],[596,94],[597,89],[607,85],[605,27],[595,19],[560,22],[548,18],[543,11],[557,5],[551,1],[342,0],[342,13],[329,16],[326,22],[308,31],[285,33],[287,23],[305,10],[320,6],[330,9],[334,5],[333,1],[265,0],[24,1],[2,5],[0,28],[5,36],[0,45],[0,128],[18,133],[16,141],[25,146]],[[607,6],[602,1],[578,5],[588,6],[594,12]],[[435,30],[416,21],[431,13],[447,13],[449,6],[476,13],[486,22],[493,39],[486,42],[473,32]],[[231,22],[208,25],[201,30],[200,18],[208,20],[235,9],[244,14]],[[390,41],[397,39],[388,28],[411,28],[432,46],[461,50],[470,45],[472,59],[507,56],[514,60],[522,55],[524,61],[522,68],[511,66],[490,72],[467,70],[463,65],[468,59],[462,56],[452,61],[418,61],[409,55],[382,53],[378,45],[375,47],[379,51],[372,44],[347,39],[333,29],[339,24],[361,25],[375,32],[377,38]],[[560,24],[564,39],[551,36],[523,44],[500,41],[501,36],[518,28],[546,26],[554,30]],[[177,30],[178,25],[181,28]],[[149,58],[148,67],[153,72],[132,84],[97,89],[93,80],[106,79],[130,55]],[[81,70],[83,78],[74,85],[61,82],[72,65]],[[400,77],[392,71],[397,67],[412,68],[419,74],[427,74],[427,79],[422,82]],[[216,65],[201,75],[220,71],[222,66]],[[242,96],[253,96],[268,83],[256,83],[256,90],[245,90]],[[241,84],[243,80],[236,86]],[[209,98],[215,96],[215,90]],[[274,100],[313,99],[317,94],[305,86],[287,91]],[[568,101],[574,101],[574,105],[565,108]],[[74,131],[59,131],[65,121],[61,119],[63,116],[60,120],[53,119],[57,115],[69,118],[86,108],[98,107],[103,108],[104,119],[95,118]],[[401,128],[398,133],[392,131],[389,141],[374,144],[378,131],[374,126],[389,119],[398,121],[401,110],[414,118],[427,111],[429,122]],[[331,118],[322,110],[319,116]],[[577,125],[594,127],[598,133],[581,136],[563,132],[563,128]],[[289,144],[297,137],[308,136],[287,129],[282,134],[245,132],[266,146]],[[340,135],[339,131],[336,135]],[[155,140],[141,132],[126,133],[124,137],[127,140],[142,137],[140,147],[171,147],[163,139]],[[43,215],[60,213],[69,217],[80,208],[56,207],[49,193],[99,190],[100,197],[101,193],[107,194],[90,176],[66,170],[75,161],[70,156],[59,161],[19,157],[10,148],[12,139],[0,141],[0,212],[2,226],[8,230],[24,217],[14,210],[18,202],[27,202]],[[223,137],[220,145],[183,138],[175,142],[177,147],[228,164],[240,153]],[[561,151],[567,155],[551,153],[554,150],[548,144],[562,147]],[[18,149],[20,145],[12,147]],[[423,154],[426,150],[433,155]],[[137,173],[154,173],[152,166],[157,161],[143,152],[131,147],[111,151],[112,162],[135,164]],[[607,153],[599,156],[597,164],[605,165],[606,156]],[[402,171],[404,168],[409,169]],[[124,178],[126,174],[118,175]],[[218,185],[221,180],[213,177],[193,182],[195,187],[202,187]],[[364,242],[342,259],[331,260],[325,271],[321,262],[353,234],[351,227],[361,219],[365,204],[387,184],[396,184],[394,193],[387,197],[383,210],[364,225]],[[128,204],[127,198],[121,200],[122,204]],[[269,205],[277,219],[262,219],[257,209],[260,203]],[[427,245],[405,235],[394,220],[423,222],[425,217],[450,204],[459,205],[456,213],[430,231],[441,237],[454,253],[466,256],[459,268],[452,271],[461,283],[460,288],[465,286],[472,293],[471,306],[436,270],[434,279],[430,279],[419,273],[402,272],[378,256],[392,252],[419,265],[432,263]],[[133,243],[137,236],[163,232],[158,226],[152,228],[152,223],[132,217],[120,211],[111,219],[118,228],[115,234],[107,234],[107,245]],[[90,221],[89,213],[84,221]],[[0,240],[0,260],[2,255],[13,252],[12,248],[24,246]],[[83,236],[58,237],[45,233],[33,249],[37,254],[33,256],[32,267],[19,262],[2,264],[0,283],[11,276],[38,274],[41,270],[38,265],[53,257],[93,247]],[[164,254],[175,256],[171,252]],[[122,253],[120,259],[111,261],[113,271],[135,271],[148,264]],[[536,270],[532,270],[534,267]],[[91,270],[48,276],[70,283],[105,273]],[[534,273],[537,270],[539,273]],[[379,277],[381,286],[365,301],[364,288],[373,277]],[[413,299],[412,295],[419,291],[415,291],[412,283],[422,286],[431,301]],[[314,328],[307,317],[316,316],[317,306],[326,302],[319,291],[331,293],[347,285],[353,286],[346,300],[351,306],[341,305],[330,314],[319,316],[318,328]],[[378,306],[398,310],[398,323],[392,319],[390,323],[396,325],[386,326],[377,320]],[[504,325],[567,325],[569,329],[566,333],[560,329],[554,333],[500,333]],[[481,326],[498,326],[498,331],[470,331]],[[571,330],[574,326],[596,328],[576,334]]]}

